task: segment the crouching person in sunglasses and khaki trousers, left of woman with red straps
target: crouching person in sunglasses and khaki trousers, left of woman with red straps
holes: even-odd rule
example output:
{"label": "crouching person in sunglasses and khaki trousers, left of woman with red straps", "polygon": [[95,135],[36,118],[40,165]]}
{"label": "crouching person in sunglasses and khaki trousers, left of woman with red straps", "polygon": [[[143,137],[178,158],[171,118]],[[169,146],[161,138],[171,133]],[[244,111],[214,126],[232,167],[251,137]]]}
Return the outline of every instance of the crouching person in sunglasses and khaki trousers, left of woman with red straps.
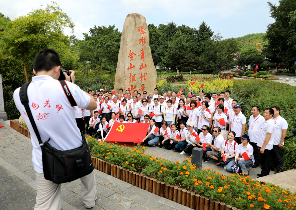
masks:
{"label": "crouching person in sunglasses and khaki trousers, left of woman with red straps", "polygon": [[224,142],[224,138],[220,133],[221,133],[221,128],[218,126],[214,127],[213,128],[213,135],[215,136],[214,144],[206,143],[206,145],[210,146],[210,148],[212,149],[212,151],[207,151],[207,156],[217,161],[217,163],[215,163],[216,166],[221,165],[221,163],[219,162],[219,156],[221,156],[222,144]]}

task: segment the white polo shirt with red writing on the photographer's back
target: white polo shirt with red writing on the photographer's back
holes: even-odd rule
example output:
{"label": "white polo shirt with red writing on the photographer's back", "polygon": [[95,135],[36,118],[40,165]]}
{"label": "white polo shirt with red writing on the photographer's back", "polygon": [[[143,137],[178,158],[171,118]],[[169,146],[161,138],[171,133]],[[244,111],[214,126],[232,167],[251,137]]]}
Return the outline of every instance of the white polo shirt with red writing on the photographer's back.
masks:
{"label": "white polo shirt with red writing on the photographer's back", "polygon": [[[89,95],[81,91],[77,85],[67,81],[66,83],[77,106],[85,109],[90,103]],[[30,110],[43,142],[50,138],[50,145],[59,150],[70,150],[82,145],[81,133],[76,126],[74,109],[58,80],[46,75],[32,77],[27,93]],[[20,88],[14,91],[13,99],[30,130],[34,170],[43,173],[41,147],[29,117],[24,114],[26,110],[20,102]]]}

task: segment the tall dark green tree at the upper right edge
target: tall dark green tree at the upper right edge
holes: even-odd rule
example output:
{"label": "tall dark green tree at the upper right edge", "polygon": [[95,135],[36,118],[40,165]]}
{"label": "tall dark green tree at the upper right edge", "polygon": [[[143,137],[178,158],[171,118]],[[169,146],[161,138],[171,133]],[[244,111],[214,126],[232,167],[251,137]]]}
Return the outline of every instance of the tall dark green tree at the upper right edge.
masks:
{"label": "tall dark green tree at the upper right edge", "polygon": [[296,1],[280,0],[279,6],[268,2],[275,21],[267,26],[268,45],[263,53],[271,63],[291,68],[296,60]]}

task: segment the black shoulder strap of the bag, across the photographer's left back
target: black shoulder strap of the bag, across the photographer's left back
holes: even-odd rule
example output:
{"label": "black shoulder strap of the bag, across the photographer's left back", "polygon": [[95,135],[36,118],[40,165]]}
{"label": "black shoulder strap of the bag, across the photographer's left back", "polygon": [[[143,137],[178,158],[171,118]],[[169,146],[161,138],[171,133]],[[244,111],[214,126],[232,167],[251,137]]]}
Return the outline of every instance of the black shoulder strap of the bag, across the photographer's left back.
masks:
{"label": "black shoulder strap of the bag, across the photographer's left back", "polygon": [[20,87],[20,101],[22,102],[22,105],[25,106],[25,109],[26,109],[26,112],[27,112],[27,115],[29,117],[29,120],[31,122],[31,125],[34,129],[34,132],[37,136],[37,139],[38,139],[38,142],[41,146],[41,144],[43,144],[42,140],[41,140],[41,137],[40,137],[40,134],[38,132],[38,129],[37,129],[37,126],[35,124],[35,121],[34,121],[34,118],[33,118],[33,115],[32,115],[32,112],[30,110],[30,106],[29,106],[29,98],[28,98],[28,93],[27,93],[27,90],[28,90],[28,86],[29,86],[30,83],[24,83],[21,87]]}

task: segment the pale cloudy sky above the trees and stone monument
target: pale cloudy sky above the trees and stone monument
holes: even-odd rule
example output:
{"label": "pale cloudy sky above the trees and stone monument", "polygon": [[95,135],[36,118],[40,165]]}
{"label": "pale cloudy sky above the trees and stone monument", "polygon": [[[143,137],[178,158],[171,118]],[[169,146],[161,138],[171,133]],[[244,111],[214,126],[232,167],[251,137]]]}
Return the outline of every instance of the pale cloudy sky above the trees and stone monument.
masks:
{"label": "pale cloudy sky above the trees and stone monument", "polygon": [[[278,5],[278,1],[269,0]],[[83,34],[94,25],[114,25],[122,31],[126,16],[139,13],[147,25],[175,22],[198,28],[202,21],[224,38],[240,37],[251,33],[265,33],[267,25],[274,22],[269,14],[267,1],[262,0],[58,0],[55,1],[75,24],[75,35]],[[0,12],[10,19],[25,15],[33,9],[45,8],[48,0],[12,0],[1,3]],[[70,30],[65,29],[70,35]]]}

